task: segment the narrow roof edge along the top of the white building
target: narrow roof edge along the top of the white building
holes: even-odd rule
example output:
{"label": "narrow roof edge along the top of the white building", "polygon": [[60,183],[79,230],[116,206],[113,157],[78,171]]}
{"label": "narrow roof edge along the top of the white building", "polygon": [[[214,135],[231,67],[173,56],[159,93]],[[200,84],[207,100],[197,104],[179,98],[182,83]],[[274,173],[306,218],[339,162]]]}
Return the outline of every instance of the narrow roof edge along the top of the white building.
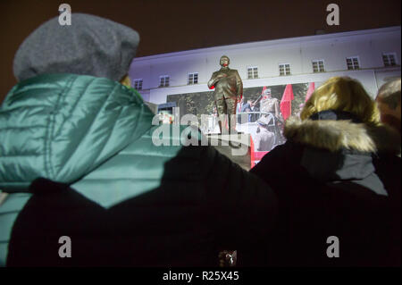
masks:
{"label": "narrow roof edge along the top of the white building", "polygon": [[225,45],[225,46],[212,46],[212,47],[204,47],[197,49],[190,49],[180,52],[172,52],[165,54],[155,54],[155,55],[147,55],[136,57],[133,60],[133,63],[141,63],[148,62],[150,60],[158,60],[158,59],[166,59],[169,57],[175,56],[185,56],[185,55],[195,55],[195,54],[211,54],[217,53],[220,51],[228,51],[228,50],[236,50],[236,49],[245,49],[245,48],[258,48],[258,47],[266,47],[266,46],[277,46],[281,44],[297,44],[309,41],[317,41],[317,40],[327,40],[334,38],[345,38],[345,37],[356,37],[356,36],[367,36],[376,33],[384,33],[384,32],[400,32],[401,26],[392,26],[387,28],[378,28],[378,29],[360,29],[339,33],[330,33],[330,34],[322,34],[322,35],[313,35],[313,36],[303,36],[297,38],[279,38],[279,39],[270,39],[270,40],[262,40],[255,42],[247,42],[241,44],[233,44],[233,45]]}

